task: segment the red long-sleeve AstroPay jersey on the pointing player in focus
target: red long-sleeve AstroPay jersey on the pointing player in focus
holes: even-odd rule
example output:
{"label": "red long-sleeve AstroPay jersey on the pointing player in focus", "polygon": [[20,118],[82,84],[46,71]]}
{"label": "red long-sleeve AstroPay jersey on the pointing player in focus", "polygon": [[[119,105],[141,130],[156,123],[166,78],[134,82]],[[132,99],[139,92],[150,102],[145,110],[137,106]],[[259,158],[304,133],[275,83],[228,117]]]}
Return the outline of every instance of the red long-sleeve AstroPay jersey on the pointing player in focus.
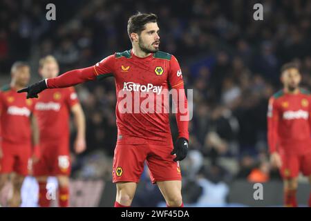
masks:
{"label": "red long-sleeve AstroPay jersey on the pointing player in focus", "polygon": [[173,102],[178,108],[178,137],[189,140],[189,113],[182,72],[177,59],[166,52],[159,51],[144,58],[136,57],[131,50],[117,52],[95,66],[71,70],[46,82],[48,88],[63,88],[110,76],[115,78],[117,94],[117,142],[171,142],[167,100],[157,102],[158,98],[169,94],[169,88],[177,89]]}

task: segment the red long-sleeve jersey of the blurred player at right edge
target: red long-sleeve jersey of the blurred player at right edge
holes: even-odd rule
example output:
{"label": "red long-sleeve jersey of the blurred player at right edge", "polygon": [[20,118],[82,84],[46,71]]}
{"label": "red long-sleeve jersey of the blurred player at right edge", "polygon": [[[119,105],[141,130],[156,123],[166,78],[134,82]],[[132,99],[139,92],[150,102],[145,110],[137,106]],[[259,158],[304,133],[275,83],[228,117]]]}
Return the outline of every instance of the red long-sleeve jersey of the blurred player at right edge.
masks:
{"label": "red long-sleeve jersey of the blurred player at right edge", "polygon": [[297,94],[280,90],[270,97],[267,112],[267,140],[270,153],[281,148],[286,153],[310,151],[310,94],[300,89]]}

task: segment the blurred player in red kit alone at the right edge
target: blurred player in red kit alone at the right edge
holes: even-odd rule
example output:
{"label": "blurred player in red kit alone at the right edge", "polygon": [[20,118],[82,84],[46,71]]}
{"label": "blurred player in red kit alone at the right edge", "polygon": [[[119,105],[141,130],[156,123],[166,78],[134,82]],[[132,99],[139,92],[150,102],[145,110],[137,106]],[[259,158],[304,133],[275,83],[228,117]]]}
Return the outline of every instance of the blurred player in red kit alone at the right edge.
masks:
{"label": "blurred player in red kit alone at the right edge", "polygon": [[284,180],[284,204],[297,206],[299,172],[308,176],[311,183],[310,93],[299,88],[301,75],[295,64],[281,68],[281,81],[283,90],[269,101],[268,144],[272,165],[279,168]]}

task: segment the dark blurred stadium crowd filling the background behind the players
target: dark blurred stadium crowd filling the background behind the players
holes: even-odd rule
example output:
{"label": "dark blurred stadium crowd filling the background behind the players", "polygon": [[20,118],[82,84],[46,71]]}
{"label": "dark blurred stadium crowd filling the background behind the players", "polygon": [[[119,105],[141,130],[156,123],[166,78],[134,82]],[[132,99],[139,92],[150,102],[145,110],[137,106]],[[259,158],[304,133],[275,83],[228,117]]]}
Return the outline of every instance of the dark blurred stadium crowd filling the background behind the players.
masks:
{"label": "dark blurred stadium crowd filling the background behind the players", "polygon": [[[311,86],[311,1],[261,1],[263,21],[253,19],[257,1],[54,1],[56,21],[46,20],[47,3],[1,1],[1,78],[8,79],[14,61],[25,60],[35,81],[44,55],[55,55],[62,73],[91,66],[130,48],[130,15],[154,12],[161,50],[178,58],[186,88],[194,89],[191,151],[182,162],[185,201],[204,202],[208,183],[279,179],[267,155],[267,101],[281,88],[284,62],[300,64],[303,86]],[[73,177],[110,180],[117,135],[113,79],[76,89],[86,114],[88,150],[73,156]],[[171,122],[176,137],[174,115]]]}

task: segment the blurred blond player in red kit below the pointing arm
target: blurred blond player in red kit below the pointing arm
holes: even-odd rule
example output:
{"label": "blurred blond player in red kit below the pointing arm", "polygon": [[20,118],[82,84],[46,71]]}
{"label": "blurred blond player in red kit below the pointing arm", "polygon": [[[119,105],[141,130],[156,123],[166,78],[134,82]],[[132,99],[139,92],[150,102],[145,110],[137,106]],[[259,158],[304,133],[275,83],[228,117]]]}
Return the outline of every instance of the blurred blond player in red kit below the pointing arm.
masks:
{"label": "blurred blond player in red kit below the pointing arm", "polygon": [[[44,78],[57,77],[59,66],[55,57],[49,55],[39,61],[39,74]],[[69,117],[73,113],[77,126],[75,152],[86,148],[85,119],[82,107],[73,87],[55,88],[40,94],[35,106],[40,131],[39,162],[33,165],[33,175],[39,183],[39,206],[50,206],[46,197],[48,176],[56,176],[59,184],[59,206],[68,206],[70,150]]]}

